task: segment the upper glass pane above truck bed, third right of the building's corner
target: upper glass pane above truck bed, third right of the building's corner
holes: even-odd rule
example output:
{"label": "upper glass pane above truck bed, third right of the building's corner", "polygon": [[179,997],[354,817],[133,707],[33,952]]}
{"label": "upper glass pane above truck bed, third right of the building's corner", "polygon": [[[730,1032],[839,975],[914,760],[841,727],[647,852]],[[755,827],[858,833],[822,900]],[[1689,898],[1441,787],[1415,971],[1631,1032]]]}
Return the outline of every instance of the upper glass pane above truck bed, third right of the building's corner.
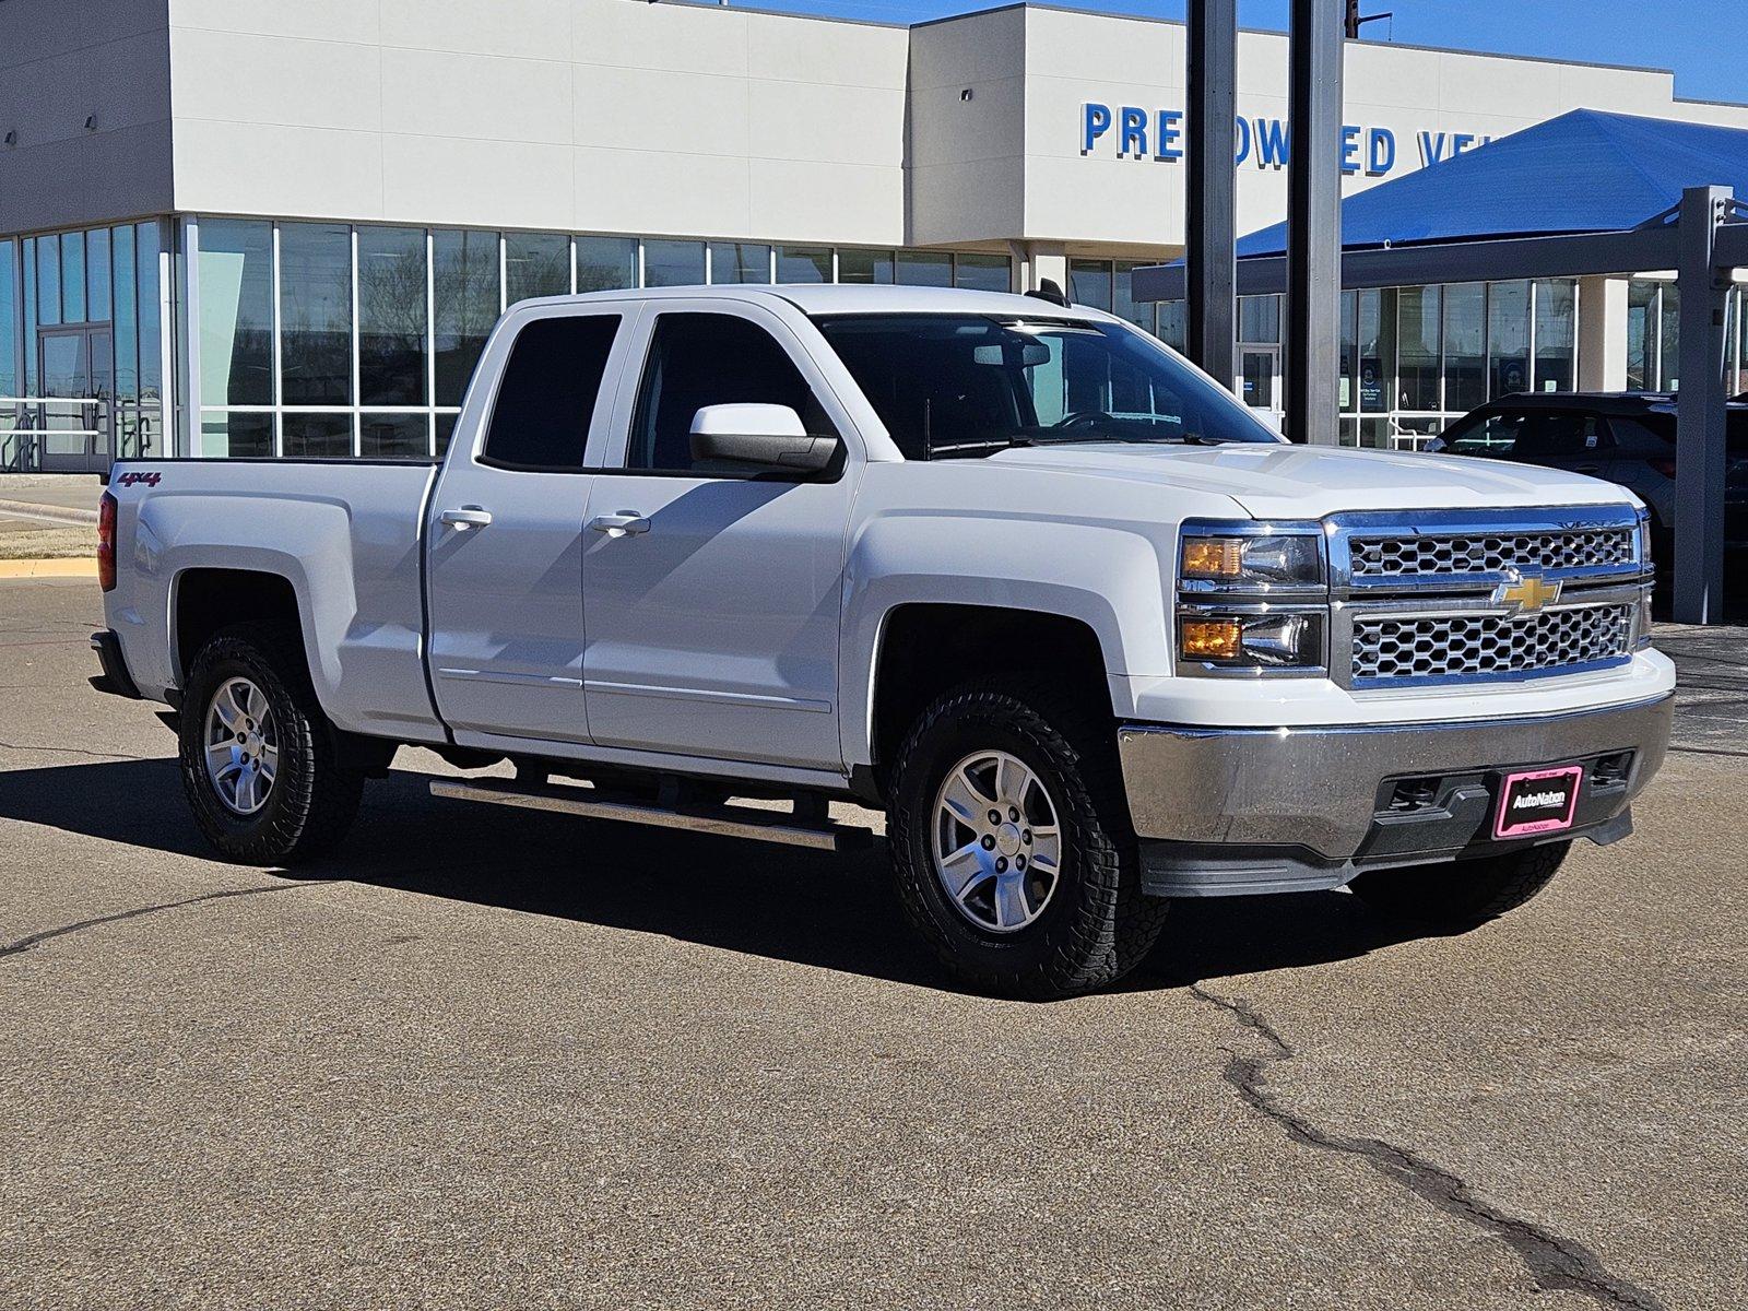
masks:
{"label": "upper glass pane above truck bed, third right of the building's corner", "polygon": [[358,229],[358,400],[425,404],[425,229]]}

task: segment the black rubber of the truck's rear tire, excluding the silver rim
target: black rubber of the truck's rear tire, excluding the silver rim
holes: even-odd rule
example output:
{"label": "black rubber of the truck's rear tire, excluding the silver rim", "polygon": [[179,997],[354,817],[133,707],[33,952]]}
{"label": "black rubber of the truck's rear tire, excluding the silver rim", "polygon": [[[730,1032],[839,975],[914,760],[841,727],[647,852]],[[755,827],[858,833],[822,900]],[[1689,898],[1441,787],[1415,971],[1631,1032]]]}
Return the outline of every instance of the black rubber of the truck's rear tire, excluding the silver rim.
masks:
{"label": "black rubber of the truck's rear tire, excluding the silver rim", "polygon": [[[206,773],[206,715],[231,678],[260,689],[278,734],[278,774],[253,815],[232,811]],[[316,703],[301,645],[260,626],[224,629],[194,656],[178,755],[182,788],[206,841],[245,865],[295,865],[329,851],[364,795],[364,773],[339,760],[339,734]]]}

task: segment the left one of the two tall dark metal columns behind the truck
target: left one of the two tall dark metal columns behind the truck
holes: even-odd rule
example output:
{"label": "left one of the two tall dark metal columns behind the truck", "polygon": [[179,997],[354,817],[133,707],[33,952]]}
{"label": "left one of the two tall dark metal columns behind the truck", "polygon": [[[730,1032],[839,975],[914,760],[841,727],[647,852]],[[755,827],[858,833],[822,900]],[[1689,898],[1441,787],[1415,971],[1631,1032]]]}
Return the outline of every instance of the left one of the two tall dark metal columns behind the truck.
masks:
{"label": "left one of the two tall dark metal columns behind the truck", "polygon": [[1189,0],[1189,198],[1185,205],[1185,350],[1232,386],[1238,376],[1238,0]]}

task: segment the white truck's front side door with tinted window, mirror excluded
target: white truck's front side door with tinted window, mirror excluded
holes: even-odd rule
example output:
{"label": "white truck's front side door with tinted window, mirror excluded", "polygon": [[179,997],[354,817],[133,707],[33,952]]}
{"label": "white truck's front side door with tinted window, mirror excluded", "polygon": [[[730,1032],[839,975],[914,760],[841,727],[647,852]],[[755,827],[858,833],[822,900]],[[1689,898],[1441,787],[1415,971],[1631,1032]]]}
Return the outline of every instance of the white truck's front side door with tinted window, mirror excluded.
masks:
{"label": "white truck's front side door with tinted window, mirror excluded", "polygon": [[589,731],[601,746],[841,769],[837,628],[860,460],[811,481],[708,467],[690,427],[703,406],[762,402],[851,440],[848,418],[776,313],[657,308],[622,400],[622,451],[589,493]]}

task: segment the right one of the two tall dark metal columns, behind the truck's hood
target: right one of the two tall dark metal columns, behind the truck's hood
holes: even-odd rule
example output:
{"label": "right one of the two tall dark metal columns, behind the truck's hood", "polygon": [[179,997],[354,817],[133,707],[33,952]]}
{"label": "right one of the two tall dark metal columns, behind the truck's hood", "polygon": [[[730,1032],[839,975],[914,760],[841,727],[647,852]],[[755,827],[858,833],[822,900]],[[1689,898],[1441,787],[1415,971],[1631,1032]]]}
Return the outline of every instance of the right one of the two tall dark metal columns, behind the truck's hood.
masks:
{"label": "right one of the two tall dark metal columns, behind the truck's hood", "polygon": [[1339,440],[1342,0],[1292,0],[1287,122],[1287,435]]}

